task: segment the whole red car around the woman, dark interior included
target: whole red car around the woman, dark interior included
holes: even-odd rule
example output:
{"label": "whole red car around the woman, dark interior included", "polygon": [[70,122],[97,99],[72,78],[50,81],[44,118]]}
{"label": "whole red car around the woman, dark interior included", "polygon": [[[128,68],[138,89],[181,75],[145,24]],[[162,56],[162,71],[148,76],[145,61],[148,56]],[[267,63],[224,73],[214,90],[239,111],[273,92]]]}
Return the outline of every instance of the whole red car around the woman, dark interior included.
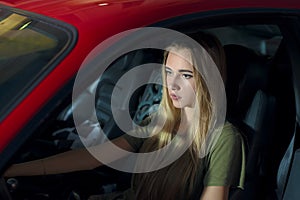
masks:
{"label": "whole red car around the woman, dark interior included", "polygon": [[[130,35],[140,30],[154,34],[131,41],[135,38]],[[224,46],[227,119],[247,143],[245,189],[232,190],[230,199],[299,199],[300,3],[296,0],[1,0],[1,173],[12,163],[80,147],[74,118],[91,132],[105,130],[111,139],[123,134],[113,114],[123,112],[124,106],[136,123],[153,112],[160,102],[159,84],[125,94],[128,105],[117,110],[111,108],[111,97],[130,69],[162,61],[161,49],[139,46],[163,38],[155,30],[208,32]],[[125,51],[124,42],[137,48],[126,44],[130,51]],[[103,64],[97,66],[100,71],[92,68],[90,78],[78,81],[79,70],[95,58]],[[153,76],[145,76],[145,81]],[[126,87],[134,84],[131,80]],[[94,108],[80,110],[77,104],[91,94]],[[86,120],[93,112],[97,122]],[[92,144],[94,139],[91,134],[86,142]],[[99,167],[2,178],[0,199],[86,199],[126,188],[129,177],[130,173]]]}

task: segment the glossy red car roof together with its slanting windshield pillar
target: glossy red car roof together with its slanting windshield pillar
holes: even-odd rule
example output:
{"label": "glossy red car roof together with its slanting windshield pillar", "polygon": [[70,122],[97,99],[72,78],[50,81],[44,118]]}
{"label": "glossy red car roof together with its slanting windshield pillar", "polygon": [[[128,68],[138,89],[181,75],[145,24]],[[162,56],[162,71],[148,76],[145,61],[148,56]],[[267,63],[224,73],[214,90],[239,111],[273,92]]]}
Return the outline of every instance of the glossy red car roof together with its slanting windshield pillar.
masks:
{"label": "glossy red car roof together with its slanting windshield pillar", "polygon": [[[106,38],[122,31],[192,13],[226,9],[276,8],[300,9],[296,0],[274,1],[1,1],[13,8],[27,10],[64,21],[78,31],[75,47],[66,58],[1,122],[0,150],[34,116],[51,96],[80,67],[85,56]],[[101,6],[102,5],[104,6]]]}

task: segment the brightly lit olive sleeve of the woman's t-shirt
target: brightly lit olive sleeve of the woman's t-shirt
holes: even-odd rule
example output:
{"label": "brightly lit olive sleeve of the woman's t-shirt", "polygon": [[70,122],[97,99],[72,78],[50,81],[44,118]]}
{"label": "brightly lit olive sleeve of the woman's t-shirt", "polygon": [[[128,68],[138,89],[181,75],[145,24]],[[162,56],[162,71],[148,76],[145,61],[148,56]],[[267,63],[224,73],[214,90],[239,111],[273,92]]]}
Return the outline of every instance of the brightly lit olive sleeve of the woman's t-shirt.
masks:
{"label": "brightly lit olive sleeve of the woman's t-shirt", "polygon": [[245,162],[245,146],[241,134],[232,125],[225,125],[208,155],[204,186],[243,188]]}

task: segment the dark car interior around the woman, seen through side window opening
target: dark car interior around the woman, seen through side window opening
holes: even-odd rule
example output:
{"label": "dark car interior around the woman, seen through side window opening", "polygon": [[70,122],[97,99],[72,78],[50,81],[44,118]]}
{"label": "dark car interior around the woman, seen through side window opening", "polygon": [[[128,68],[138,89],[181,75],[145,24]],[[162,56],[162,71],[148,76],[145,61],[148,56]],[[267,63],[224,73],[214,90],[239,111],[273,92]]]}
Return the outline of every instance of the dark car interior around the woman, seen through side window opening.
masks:
{"label": "dark car interior around the woman, seen through side window opening", "polygon": [[[183,33],[208,32],[221,41],[227,63],[227,120],[243,135],[247,146],[244,189],[233,188],[230,199],[293,199],[299,193],[300,145],[296,137],[296,102],[289,40],[282,23],[274,20],[235,21],[214,25],[203,19],[180,21],[168,28]],[[195,28],[199,27],[199,28]],[[101,128],[109,139],[124,132],[116,125],[111,110],[111,95],[117,81],[128,70],[146,63],[162,63],[163,51],[141,49],[120,56],[91,83],[77,99],[71,93],[55,105],[31,137],[18,150],[11,163],[46,157],[83,144],[73,122],[77,104],[87,102],[95,93],[98,121],[90,121],[94,112],[82,112],[82,126],[90,128],[85,144],[97,142]],[[149,79],[159,79],[156,69]],[[134,84],[134,80],[133,83]],[[133,122],[140,124],[157,110],[161,87],[149,84],[138,88],[130,97],[129,110]],[[125,105],[126,106],[126,105]],[[119,112],[123,112],[120,106]],[[134,124],[132,124],[134,125]],[[107,166],[93,170],[58,175],[12,177],[5,180],[11,199],[87,199],[91,194],[109,193],[130,187],[130,173]],[[291,178],[289,178],[291,177]],[[298,178],[299,180],[299,178]]]}

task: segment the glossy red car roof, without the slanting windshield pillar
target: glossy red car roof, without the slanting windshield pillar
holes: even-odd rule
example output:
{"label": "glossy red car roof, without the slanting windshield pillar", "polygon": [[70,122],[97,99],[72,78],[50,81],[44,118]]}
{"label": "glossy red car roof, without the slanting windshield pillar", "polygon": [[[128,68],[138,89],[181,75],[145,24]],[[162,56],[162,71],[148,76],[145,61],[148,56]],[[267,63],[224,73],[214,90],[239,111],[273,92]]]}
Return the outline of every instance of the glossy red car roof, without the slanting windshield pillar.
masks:
{"label": "glossy red car roof, without the slanting windshield pillar", "polygon": [[96,43],[124,30],[196,12],[234,8],[300,9],[297,0],[0,0],[0,4],[72,24],[80,36],[97,38]]}

